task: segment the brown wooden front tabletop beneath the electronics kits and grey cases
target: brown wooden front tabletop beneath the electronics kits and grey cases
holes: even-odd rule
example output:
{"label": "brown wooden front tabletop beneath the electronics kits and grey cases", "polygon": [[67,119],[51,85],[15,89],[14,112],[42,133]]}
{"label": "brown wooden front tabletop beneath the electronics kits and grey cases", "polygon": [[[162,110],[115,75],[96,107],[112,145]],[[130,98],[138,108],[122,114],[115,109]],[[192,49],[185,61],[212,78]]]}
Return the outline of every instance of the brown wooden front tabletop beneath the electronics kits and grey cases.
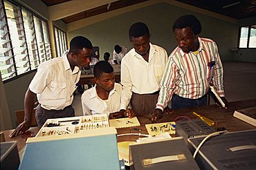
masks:
{"label": "brown wooden front tabletop beneath the electronics kits and grey cases", "polygon": [[[216,125],[212,126],[214,129],[217,129],[218,127],[225,127],[228,131],[245,131],[250,129],[256,129],[256,127],[242,120],[239,120],[236,117],[233,117],[233,113],[235,110],[239,110],[242,108],[255,107],[255,106],[256,106],[256,99],[230,102],[228,104],[228,109],[219,108],[215,104],[196,107],[196,108],[183,108],[183,109],[174,111],[172,115],[164,114],[161,120],[158,120],[158,122],[173,122],[176,119],[176,117],[181,115],[190,116],[190,118],[192,119],[197,118],[195,115],[192,114],[192,112],[194,111],[196,113],[199,113],[200,115],[204,115],[205,117],[210,118],[211,120],[214,120],[214,122],[217,122]],[[140,116],[138,116],[138,120],[140,121],[140,126],[117,129],[118,134],[130,133],[130,131],[131,133],[148,134],[145,124],[151,124],[152,122],[147,118],[140,117]],[[132,130],[134,128],[138,128],[140,129],[140,131],[138,132],[138,131]],[[2,131],[2,132],[5,135],[6,142],[17,141],[18,151],[20,151],[25,147],[26,139],[21,138],[22,135],[18,135],[15,138],[9,138],[9,135],[10,133],[12,133],[12,131],[14,131],[14,129],[8,130],[8,131]],[[29,131],[37,133],[39,131],[39,127],[30,128]],[[172,136],[174,137],[174,135]],[[118,137],[118,142],[136,141],[138,138],[139,138],[138,135],[124,135],[124,136]]]}

